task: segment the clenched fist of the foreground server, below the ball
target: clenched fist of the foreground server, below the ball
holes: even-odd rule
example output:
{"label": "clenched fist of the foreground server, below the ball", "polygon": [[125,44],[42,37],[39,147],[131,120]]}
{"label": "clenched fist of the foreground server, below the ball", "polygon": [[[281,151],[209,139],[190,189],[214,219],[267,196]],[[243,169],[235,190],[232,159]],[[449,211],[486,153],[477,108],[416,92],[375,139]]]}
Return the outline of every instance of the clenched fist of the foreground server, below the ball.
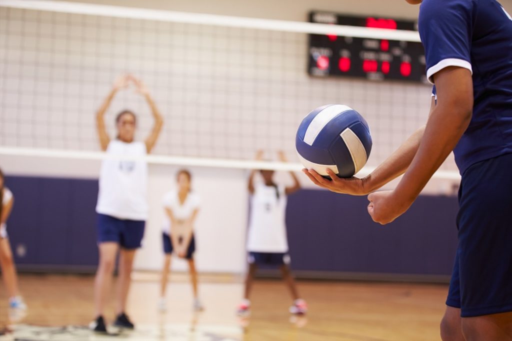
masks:
{"label": "clenched fist of the foreground server, below the ball", "polygon": [[368,201],[368,213],[374,222],[381,225],[389,224],[400,217],[412,204],[397,196],[393,190],[371,193]]}

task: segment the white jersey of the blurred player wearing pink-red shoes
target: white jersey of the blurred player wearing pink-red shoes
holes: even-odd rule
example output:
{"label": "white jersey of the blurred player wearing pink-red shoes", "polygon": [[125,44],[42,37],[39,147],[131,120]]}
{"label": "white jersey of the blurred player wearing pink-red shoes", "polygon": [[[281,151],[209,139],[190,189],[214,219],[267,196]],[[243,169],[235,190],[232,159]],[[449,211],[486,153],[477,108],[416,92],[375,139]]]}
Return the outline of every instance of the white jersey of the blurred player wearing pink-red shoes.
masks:
{"label": "white jersey of the blurred player wearing pink-red shoes", "polygon": [[247,251],[288,252],[285,225],[286,201],[284,186],[278,186],[277,190],[274,186],[263,183],[254,186]]}

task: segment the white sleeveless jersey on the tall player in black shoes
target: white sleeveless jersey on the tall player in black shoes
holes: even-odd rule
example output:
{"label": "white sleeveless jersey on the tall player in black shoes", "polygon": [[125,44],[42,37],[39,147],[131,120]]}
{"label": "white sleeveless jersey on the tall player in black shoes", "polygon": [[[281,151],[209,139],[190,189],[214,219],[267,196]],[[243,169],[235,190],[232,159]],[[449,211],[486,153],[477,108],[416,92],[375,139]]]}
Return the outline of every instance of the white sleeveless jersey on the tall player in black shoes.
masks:
{"label": "white sleeveless jersey on the tall player in black shoes", "polygon": [[[112,140],[106,148],[110,155],[144,157],[143,142]],[[105,159],[101,163],[96,212],[117,219],[147,219],[147,163],[143,160]]]}

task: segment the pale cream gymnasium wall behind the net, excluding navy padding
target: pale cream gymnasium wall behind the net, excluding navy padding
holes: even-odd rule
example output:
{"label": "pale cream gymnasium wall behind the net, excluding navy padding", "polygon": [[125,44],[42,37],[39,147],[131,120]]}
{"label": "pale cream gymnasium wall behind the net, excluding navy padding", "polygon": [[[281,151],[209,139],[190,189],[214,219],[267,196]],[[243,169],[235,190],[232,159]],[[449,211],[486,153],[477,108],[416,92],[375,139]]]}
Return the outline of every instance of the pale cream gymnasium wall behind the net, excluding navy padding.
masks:
{"label": "pale cream gymnasium wall behind the net, excluding navy padding", "polygon": [[[403,2],[402,0],[390,1],[397,4]],[[512,10],[511,0],[502,3],[509,11]],[[409,6],[404,2],[403,6],[389,6],[389,2],[381,0],[364,2],[348,0],[127,2],[119,0],[101,2],[101,4],[286,20],[305,20],[307,12],[311,9],[404,18],[415,18],[417,15],[417,7]],[[94,113],[109,91],[113,79],[119,73],[126,71],[133,72],[146,82],[165,116],[164,131],[155,148],[156,154],[163,155],[251,158],[254,150],[262,147],[267,151],[283,149],[288,152],[292,160],[295,160],[293,137],[302,117],[318,105],[344,102],[350,103],[368,118],[375,141],[369,163],[376,165],[424,122],[428,114],[430,87],[426,85],[310,78],[305,71],[307,46],[305,35],[251,30],[245,30],[239,35],[236,32],[228,32],[227,29],[216,28],[213,30],[215,37],[205,41],[211,44],[212,48],[217,46],[223,49],[216,50],[212,56],[214,59],[209,60],[211,63],[208,60],[202,63],[201,55],[196,49],[187,50],[185,52],[193,62],[189,65],[184,62],[183,50],[175,48],[171,49],[168,55],[160,54],[156,63],[153,56],[149,59],[152,60],[151,63],[144,63],[146,54],[151,51],[147,52],[147,49],[141,45],[139,32],[139,38],[135,41],[123,41],[125,50],[121,52],[108,47],[107,43],[112,40],[109,38],[110,40],[100,41],[100,43],[104,44],[102,46],[105,49],[113,49],[106,50],[109,51],[110,56],[102,56],[98,59],[92,56],[95,61],[89,64],[88,58],[91,56],[84,54],[78,65],[72,65],[70,62],[76,59],[70,56],[80,54],[81,42],[78,38],[77,40],[69,37],[73,34],[87,36],[87,30],[78,30],[81,24],[78,25],[66,15],[53,16],[48,13],[37,15],[28,12],[10,12],[8,16],[6,9],[0,8],[0,46],[2,47],[0,50],[0,78],[2,78],[0,82],[0,145],[2,146],[99,150]],[[21,24],[27,16],[30,20],[38,18],[40,34],[49,34],[43,37],[48,45],[39,46],[38,49],[33,50],[29,48],[34,41],[33,38],[25,40],[12,38],[19,38],[27,33],[22,31],[25,26]],[[7,20],[8,17],[9,20]],[[102,32],[108,33],[108,37],[114,37],[124,30],[124,28],[116,28],[116,25],[112,25],[112,22],[105,18],[80,16],[80,20],[90,21],[95,25],[95,37],[101,36]],[[140,20],[133,23],[123,22],[123,25],[127,25],[132,30],[142,27],[141,32],[145,32],[143,30],[145,26]],[[150,28],[146,31],[152,36],[154,24],[148,25]],[[35,30],[34,25],[29,27]],[[201,41],[201,33],[208,31],[205,28],[184,31],[184,26],[179,26],[179,29],[182,30],[179,34],[170,31],[169,35],[175,37],[176,40],[173,41],[176,44],[182,44],[182,47],[186,45],[183,41],[184,37],[198,42]],[[59,50],[63,41],[68,43],[65,49]],[[230,50],[232,41],[242,46],[242,49],[238,46],[237,49]],[[272,49],[275,49],[275,54],[261,54],[262,51]],[[59,59],[60,57],[63,59]],[[55,60],[56,64],[49,63],[48,60]],[[222,60],[231,61],[230,69],[221,62]],[[201,63],[202,65],[198,67]],[[75,72],[76,68],[81,71]],[[260,70],[266,71],[261,74]],[[209,75],[206,83],[199,72]],[[263,76],[263,80],[258,78],[260,76]],[[247,84],[251,88],[244,88]],[[143,138],[150,129],[151,120],[148,119],[150,116],[145,103],[133,93],[120,94],[113,102],[107,117],[111,135],[114,134],[114,114],[125,106],[133,108],[139,114],[139,138]],[[203,116],[205,113],[208,117]],[[217,122],[205,125],[205,119]],[[99,162],[91,160],[0,156],[0,166],[9,176],[94,180],[99,173]],[[455,169],[451,157],[443,165],[443,169]],[[163,215],[160,201],[163,193],[173,187],[176,170],[177,167],[150,166],[148,198],[151,207],[150,219],[147,224],[146,246],[139,252],[136,261],[138,269],[160,267],[162,257],[159,231]],[[194,187],[203,201],[197,224],[199,269],[243,272],[248,172],[205,167],[193,168],[193,174]],[[286,175],[281,177],[287,179]],[[302,176],[301,181],[311,187]],[[51,191],[52,188],[48,190]],[[444,194],[450,191],[451,183],[448,182],[436,182],[428,187],[430,193]],[[16,193],[14,195],[17,196]],[[330,205],[332,197],[325,198],[329,198],[327,204]],[[322,200],[327,200],[325,198],[322,197]],[[365,207],[364,200],[347,200],[354,200],[357,207]],[[56,205],[58,207],[58,203]],[[16,201],[18,211],[23,211],[23,207],[22,201]],[[36,212],[27,210],[26,214],[36,215]],[[91,215],[94,215],[94,212],[91,212]],[[367,222],[369,219],[364,212],[356,218],[361,219],[361,222]],[[443,221],[443,224],[446,221]],[[38,229],[45,230],[51,225],[49,218],[45,218],[42,222],[44,224],[37,226]],[[355,222],[354,225],[358,223]],[[30,233],[34,226],[13,224],[9,228],[26,229],[27,233]],[[94,226],[89,228],[94,229]],[[454,225],[447,224],[439,230],[439,233],[453,233],[450,232],[453,228]],[[48,230],[51,231],[51,229]],[[382,231],[386,231],[386,228]],[[453,242],[453,239],[442,237],[443,235],[440,235],[439,239]],[[435,244],[432,244],[431,250],[435,250]],[[184,269],[184,264],[181,262],[177,264],[178,268]]]}

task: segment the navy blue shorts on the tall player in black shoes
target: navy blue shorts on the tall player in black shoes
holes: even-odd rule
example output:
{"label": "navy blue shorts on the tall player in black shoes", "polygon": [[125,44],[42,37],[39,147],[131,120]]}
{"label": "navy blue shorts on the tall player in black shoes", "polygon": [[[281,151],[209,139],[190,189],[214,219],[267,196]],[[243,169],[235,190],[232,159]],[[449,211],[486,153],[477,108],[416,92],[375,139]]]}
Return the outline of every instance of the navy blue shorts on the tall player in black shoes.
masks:
{"label": "navy blue shorts on the tall player in black shoes", "polygon": [[124,249],[137,249],[141,247],[145,225],[143,220],[122,220],[98,214],[98,244],[115,242]]}

